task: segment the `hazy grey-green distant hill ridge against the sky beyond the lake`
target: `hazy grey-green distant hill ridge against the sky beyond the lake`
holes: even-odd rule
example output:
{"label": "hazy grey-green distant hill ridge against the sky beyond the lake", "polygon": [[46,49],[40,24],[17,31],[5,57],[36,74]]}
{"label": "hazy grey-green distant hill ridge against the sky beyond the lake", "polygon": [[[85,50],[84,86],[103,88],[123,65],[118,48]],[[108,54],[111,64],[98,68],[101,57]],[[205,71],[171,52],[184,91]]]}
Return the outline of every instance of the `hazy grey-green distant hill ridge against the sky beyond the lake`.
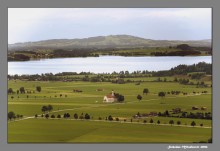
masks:
{"label": "hazy grey-green distant hill ridge against the sky beyond the lake", "polygon": [[140,47],[168,47],[179,44],[188,44],[195,47],[211,47],[211,39],[205,40],[153,40],[131,35],[97,36],[83,39],[50,39],[37,42],[24,42],[8,44],[8,50],[34,50],[34,49],[66,49],[88,48],[140,48]]}

